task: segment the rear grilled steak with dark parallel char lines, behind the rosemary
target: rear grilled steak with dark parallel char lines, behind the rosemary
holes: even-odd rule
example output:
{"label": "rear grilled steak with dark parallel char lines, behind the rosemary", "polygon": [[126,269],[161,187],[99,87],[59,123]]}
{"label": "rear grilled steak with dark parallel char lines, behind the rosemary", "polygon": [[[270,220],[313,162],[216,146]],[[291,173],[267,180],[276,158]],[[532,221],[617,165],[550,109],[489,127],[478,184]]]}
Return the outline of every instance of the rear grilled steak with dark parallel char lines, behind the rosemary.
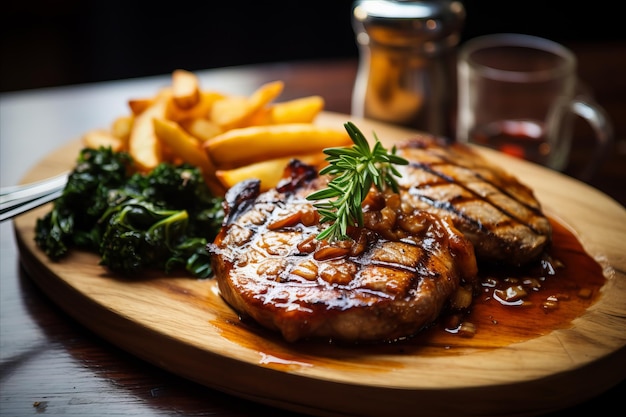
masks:
{"label": "rear grilled steak with dark parallel char lines, behind the rosemary", "polygon": [[527,186],[460,144],[419,136],[399,146],[402,201],[448,218],[479,260],[525,264],[550,243],[552,229]]}

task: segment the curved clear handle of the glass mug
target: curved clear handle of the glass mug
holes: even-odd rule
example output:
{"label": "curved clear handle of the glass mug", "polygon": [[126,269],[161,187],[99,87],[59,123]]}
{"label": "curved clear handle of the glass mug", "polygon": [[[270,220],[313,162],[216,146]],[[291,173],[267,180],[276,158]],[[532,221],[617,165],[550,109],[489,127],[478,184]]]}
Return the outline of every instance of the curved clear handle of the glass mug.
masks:
{"label": "curved clear handle of the glass mug", "polygon": [[579,95],[570,103],[572,113],[582,117],[589,123],[595,133],[596,147],[587,166],[578,178],[589,182],[604,162],[611,143],[613,142],[613,126],[606,111],[589,96]]}

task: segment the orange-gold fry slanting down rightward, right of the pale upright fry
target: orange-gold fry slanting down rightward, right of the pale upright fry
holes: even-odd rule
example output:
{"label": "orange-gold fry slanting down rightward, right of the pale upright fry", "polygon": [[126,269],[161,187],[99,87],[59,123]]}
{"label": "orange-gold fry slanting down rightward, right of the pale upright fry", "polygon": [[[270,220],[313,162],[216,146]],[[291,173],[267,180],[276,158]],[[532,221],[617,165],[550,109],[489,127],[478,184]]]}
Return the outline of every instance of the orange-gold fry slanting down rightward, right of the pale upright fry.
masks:
{"label": "orange-gold fry slanting down rightward, right of the pale upright fry", "polygon": [[219,195],[224,192],[221,183],[215,177],[215,166],[202,149],[202,144],[183,128],[171,120],[152,119],[154,132],[159,140],[169,148],[175,157],[184,162],[197,166],[202,171],[204,179],[213,193]]}

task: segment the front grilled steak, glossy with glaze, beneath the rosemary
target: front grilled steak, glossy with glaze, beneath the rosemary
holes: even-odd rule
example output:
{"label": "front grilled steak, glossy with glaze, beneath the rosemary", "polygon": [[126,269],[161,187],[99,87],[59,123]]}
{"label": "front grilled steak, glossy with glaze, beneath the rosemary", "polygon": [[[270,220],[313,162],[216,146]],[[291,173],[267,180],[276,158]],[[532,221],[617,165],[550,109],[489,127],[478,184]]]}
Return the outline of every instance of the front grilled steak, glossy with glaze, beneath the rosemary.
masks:
{"label": "front grilled steak, glossy with glaze, beneath the rosemary", "polygon": [[285,181],[259,193],[244,181],[226,195],[224,227],[208,249],[223,298],[287,341],[376,342],[431,324],[477,273],[473,246],[444,218],[372,190],[365,227],[329,244],[306,196],[326,186],[292,163]]}

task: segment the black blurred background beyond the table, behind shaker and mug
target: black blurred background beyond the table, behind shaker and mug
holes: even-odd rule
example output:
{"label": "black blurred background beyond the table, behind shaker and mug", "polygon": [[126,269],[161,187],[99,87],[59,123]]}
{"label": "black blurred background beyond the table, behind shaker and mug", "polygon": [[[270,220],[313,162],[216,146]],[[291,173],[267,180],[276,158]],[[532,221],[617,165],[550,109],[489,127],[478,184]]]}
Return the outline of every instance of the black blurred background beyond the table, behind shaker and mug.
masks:
{"label": "black blurred background beyond the table, behind shaker and mug", "polygon": [[[609,0],[465,0],[463,40],[519,32],[572,42],[626,37]],[[251,63],[357,57],[352,0],[4,2],[0,91]],[[626,51],[624,51],[626,54]]]}

